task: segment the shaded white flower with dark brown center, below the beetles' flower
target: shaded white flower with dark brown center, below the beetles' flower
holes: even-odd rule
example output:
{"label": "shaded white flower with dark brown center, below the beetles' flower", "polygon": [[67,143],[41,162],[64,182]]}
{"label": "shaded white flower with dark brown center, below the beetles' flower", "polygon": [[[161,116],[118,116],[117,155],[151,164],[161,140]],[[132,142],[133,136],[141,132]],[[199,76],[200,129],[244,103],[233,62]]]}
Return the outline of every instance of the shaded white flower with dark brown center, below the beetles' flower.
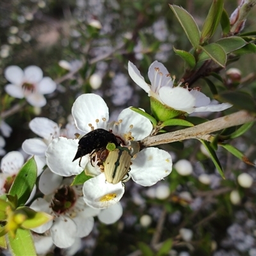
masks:
{"label": "shaded white flower with dark brown center, below the beetles' flower", "polygon": [[50,230],[53,243],[60,248],[72,246],[77,237],[88,236],[93,228],[93,216],[99,214],[99,210],[84,204],[82,187],[69,184],[70,179],[63,180],[54,195],[37,198],[31,204],[31,209],[54,216],[54,220],[32,230],[39,234]]}

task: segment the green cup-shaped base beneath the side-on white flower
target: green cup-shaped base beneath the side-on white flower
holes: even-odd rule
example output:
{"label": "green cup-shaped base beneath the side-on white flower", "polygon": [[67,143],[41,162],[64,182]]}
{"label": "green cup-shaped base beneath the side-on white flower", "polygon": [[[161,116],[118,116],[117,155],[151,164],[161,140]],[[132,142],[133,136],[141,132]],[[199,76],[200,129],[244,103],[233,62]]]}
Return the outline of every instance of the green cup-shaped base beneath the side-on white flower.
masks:
{"label": "green cup-shaped base beneath the side-on white flower", "polygon": [[166,121],[186,113],[184,111],[173,109],[167,105],[164,105],[154,97],[150,97],[150,107],[152,114],[158,121]]}

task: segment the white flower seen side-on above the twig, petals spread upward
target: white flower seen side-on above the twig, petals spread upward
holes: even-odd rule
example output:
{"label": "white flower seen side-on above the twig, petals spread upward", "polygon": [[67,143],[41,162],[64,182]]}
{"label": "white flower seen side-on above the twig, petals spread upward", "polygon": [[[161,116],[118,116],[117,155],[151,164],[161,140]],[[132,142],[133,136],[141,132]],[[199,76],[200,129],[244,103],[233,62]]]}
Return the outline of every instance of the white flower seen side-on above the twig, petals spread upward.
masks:
{"label": "white flower seen side-on above the twig, petals spread upward", "polygon": [[183,111],[186,113],[205,112],[205,111],[222,111],[230,108],[229,103],[211,105],[209,97],[199,92],[197,88],[188,89],[181,87],[180,84],[173,87],[174,78],[170,75],[166,67],[158,61],[154,61],[148,68],[148,78],[150,84],[145,82],[140,71],[129,61],[128,72],[132,80],[138,84],[149,97],[154,97],[161,104],[170,108]]}

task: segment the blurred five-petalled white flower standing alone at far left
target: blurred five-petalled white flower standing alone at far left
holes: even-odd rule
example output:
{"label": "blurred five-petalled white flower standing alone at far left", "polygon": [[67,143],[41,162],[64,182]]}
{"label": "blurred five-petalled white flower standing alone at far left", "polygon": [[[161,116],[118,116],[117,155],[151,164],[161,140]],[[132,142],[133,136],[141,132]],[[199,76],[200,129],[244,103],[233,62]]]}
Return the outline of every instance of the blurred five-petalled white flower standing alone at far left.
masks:
{"label": "blurred five-petalled white flower standing alone at far left", "polygon": [[52,93],[56,83],[50,77],[43,77],[42,69],[29,66],[24,71],[18,66],[10,66],[4,70],[5,78],[10,82],[5,86],[5,91],[14,98],[26,100],[35,107],[46,104],[44,94]]}

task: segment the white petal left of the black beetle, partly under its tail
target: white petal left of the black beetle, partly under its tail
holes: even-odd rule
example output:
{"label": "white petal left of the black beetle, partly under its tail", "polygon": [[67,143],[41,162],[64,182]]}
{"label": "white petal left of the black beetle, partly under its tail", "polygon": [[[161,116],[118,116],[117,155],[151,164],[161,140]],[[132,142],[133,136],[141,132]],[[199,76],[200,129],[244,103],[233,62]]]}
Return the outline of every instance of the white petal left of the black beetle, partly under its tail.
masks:
{"label": "white petal left of the black beetle, partly under its tail", "polygon": [[82,158],[82,167],[79,166],[79,159],[72,162],[76,156],[78,141],[64,137],[52,140],[45,152],[47,165],[52,172],[65,177],[83,172],[84,166],[89,161],[88,156]]}

